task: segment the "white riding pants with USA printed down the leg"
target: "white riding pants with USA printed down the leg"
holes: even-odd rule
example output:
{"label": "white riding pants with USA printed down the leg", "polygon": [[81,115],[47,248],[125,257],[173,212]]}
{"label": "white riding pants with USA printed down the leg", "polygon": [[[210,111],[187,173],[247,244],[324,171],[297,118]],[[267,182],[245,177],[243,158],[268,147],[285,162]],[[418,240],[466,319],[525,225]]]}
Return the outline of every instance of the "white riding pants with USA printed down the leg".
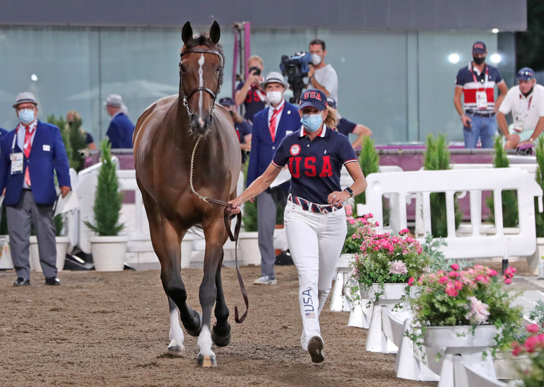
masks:
{"label": "white riding pants with USA printed down the leg", "polygon": [[302,349],[314,336],[321,337],[319,314],[331,291],[336,263],[340,257],[347,226],[343,208],[327,214],[304,211],[287,202],[285,233],[292,261],[298,272]]}

